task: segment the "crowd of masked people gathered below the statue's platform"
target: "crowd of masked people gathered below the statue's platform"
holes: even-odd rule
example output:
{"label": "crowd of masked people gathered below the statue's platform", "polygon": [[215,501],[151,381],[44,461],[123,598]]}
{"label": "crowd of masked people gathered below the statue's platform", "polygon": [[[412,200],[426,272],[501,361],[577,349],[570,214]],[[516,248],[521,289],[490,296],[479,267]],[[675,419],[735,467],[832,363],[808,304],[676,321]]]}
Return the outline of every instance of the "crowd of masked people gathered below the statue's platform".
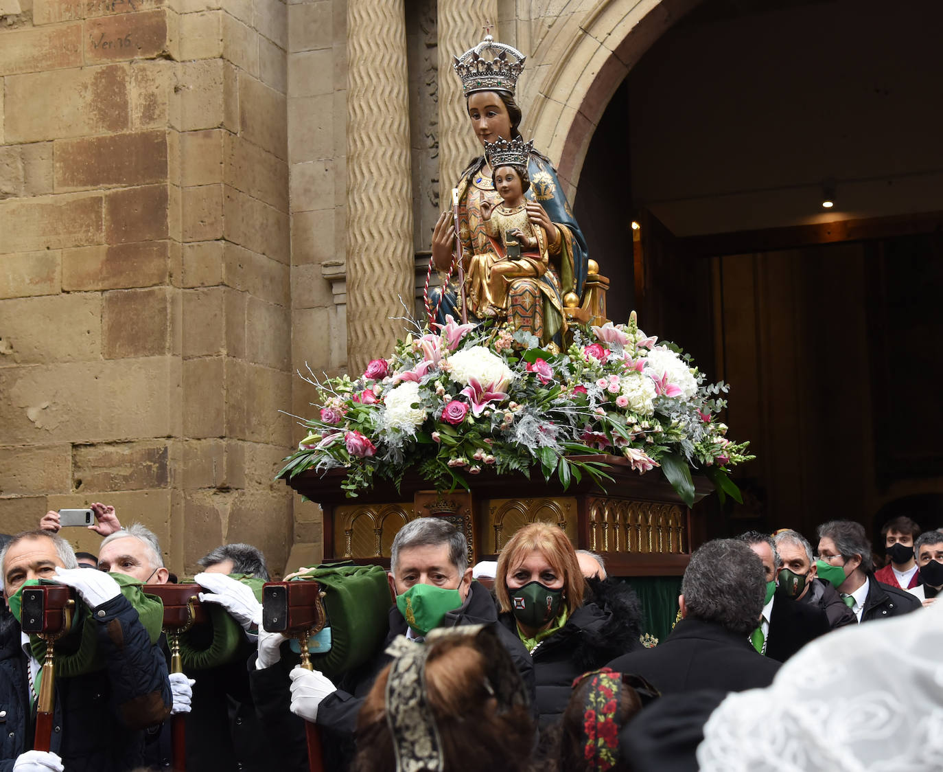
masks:
{"label": "crowd of masked people gathered below the statue's platform", "polygon": [[[0,772],[171,768],[174,716],[186,717],[190,770],[306,770],[306,724],[320,730],[323,768],[337,770],[864,768],[866,748],[869,764],[911,752],[874,739],[909,720],[911,680],[869,660],[887,651],[926,669],[927,694],[912,696],[939,711],[929,640],[943,607],[921,608],[943,587],[943,531],[907,517],[885,525],[879,570],[865,529],[847,520],[821,525],[815,548],[787,529],[707,542],[656,646],[642,643],[630,583],[562,529],[525,526],[496,563],[472,568],[459,530],[419,518],[391,547],[383,646],[332,680],[263,628],[252,581],[269,574],[251,545],[212,550],[192,579],[202,603],[234,620],[239,654],[169,673],[163,612],[141,585],[177,578],[152,531],[123,527],[107,505],[92,510],[97,555],[74,553],[58,512],[4,537]],[[81,630],[39,744],[52,644],[23,631],[23,591],[48,583],[73,588]],[[873,713],[833,710],[833,697],[852,693]],[[932,727],[912,723],[931,742]],[[873,742],[852,742],[863,731]]]}

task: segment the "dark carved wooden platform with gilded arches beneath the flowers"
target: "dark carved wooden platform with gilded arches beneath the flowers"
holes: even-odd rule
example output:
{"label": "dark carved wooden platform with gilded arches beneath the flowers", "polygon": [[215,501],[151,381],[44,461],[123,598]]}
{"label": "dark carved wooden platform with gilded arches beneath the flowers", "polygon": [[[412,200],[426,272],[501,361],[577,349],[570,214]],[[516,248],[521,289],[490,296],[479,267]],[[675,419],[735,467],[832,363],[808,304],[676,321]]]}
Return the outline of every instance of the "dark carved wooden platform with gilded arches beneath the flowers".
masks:
{"label": "dark carved wooden platform with gilded arches beneath the flowers", "polygon": [[[605,489],[584,478],[567,491],[554,478],[497,476],[488,469],[470,476],[471,491],[438,494],[418,476],[407,475],[399,493],[381,480],[372,491],[347,498],[344,471],[323,477],[304,472],[289,481],[323,510],[324,558],[389,565],[396,532],[415,517],[446,517],[465,531],[469,562],[495,560],[517,529],[537,520],[565,529],[578,549],[604,556],[616,576],[671,576],[684,573],[693,547],[703,541],[695,505],[689,510],[660,473],[641,476],[619,456],[592,458],[611,464]],[[696,499],[712,490],[695,478]]]}

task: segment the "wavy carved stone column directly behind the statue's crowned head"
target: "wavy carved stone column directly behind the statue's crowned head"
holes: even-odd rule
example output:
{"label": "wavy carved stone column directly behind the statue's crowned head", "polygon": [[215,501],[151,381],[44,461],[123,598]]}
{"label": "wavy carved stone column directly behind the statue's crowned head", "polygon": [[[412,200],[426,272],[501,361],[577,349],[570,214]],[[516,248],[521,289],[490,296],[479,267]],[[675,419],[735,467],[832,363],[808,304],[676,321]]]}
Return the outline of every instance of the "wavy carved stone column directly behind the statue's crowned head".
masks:
{"label": "wavy carved stone column directly behind the statue's crowned head", "polygon": [[[440,200],[446,205],[452,200],[446,193],[455,187],[462,169],[481,155],[452,58],[481,41],[488,21],[497,24],[498,0],[438,0],[438,180]],[[491,34],[501,40],[496,27]]]}

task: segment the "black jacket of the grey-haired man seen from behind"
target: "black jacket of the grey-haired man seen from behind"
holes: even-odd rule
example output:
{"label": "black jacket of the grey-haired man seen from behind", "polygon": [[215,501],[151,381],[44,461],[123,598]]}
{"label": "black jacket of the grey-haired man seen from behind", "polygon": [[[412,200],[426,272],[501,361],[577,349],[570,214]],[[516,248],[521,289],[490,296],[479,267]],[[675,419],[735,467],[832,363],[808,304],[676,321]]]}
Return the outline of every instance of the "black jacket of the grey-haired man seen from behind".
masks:
{"label": "black jacket of the grey-haired man seen from behind", "polygon": [[649,680],[662,694],[695,689],[741,692],[769,686],[779,666],[757,654],[743,633],[690,618],[678,622],[664,643],[609,663],[620,673]]}

